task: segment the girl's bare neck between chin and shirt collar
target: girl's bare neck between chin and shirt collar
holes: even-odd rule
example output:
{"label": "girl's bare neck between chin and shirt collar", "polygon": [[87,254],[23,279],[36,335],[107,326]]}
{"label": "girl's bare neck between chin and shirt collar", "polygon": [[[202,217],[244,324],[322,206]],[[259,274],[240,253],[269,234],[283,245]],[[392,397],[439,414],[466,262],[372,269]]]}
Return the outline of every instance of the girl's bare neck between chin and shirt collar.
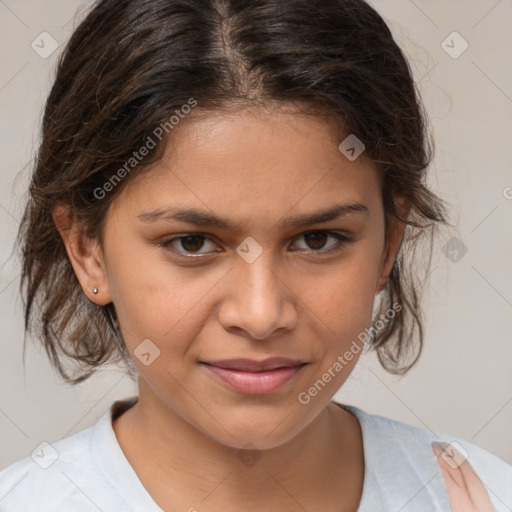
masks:
{"label": "girl's bare neck between chin and shirt collar", "polygon": [[138,403],[114,430],[161,508],[252,510],[250,503],[254,510],[314,510],[322,496],[333,510],[357,510],[364,473],[359,422],[334,404],[285,444],[242,451],[191,426],[141,382]]}

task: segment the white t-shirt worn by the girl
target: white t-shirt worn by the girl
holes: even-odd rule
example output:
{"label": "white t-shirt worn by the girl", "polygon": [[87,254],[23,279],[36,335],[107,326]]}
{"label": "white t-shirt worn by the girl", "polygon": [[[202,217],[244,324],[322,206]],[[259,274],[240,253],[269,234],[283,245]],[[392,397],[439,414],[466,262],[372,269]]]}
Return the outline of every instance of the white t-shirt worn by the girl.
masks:
{"label": "white t-shirt worn by the girl", "polygon": [[[0,472],[1,512],[162,512],[130,466],[112,419],[135,404],[118,400],[97,423],[43,446]],[[459,443],[497,511],[512,510],[512,466],[476,445],[343,405],[363,434],[365,473],[358,512],[450,510],[431,441]],[[191,504],[193,506],[194,504]],[[201,507],[197,507],[201,510]]]}

